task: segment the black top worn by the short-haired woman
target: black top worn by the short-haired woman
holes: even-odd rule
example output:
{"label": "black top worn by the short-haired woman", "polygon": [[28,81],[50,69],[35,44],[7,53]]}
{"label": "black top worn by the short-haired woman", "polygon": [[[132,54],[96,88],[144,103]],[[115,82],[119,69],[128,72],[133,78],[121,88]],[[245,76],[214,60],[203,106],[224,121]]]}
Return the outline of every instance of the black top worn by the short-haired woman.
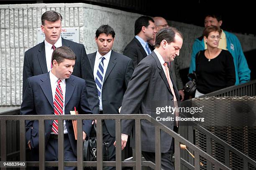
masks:
{"label": "black top worn by the short-haired woman", "polygon": [[[198,52],[199,53],[199,52]],[[203,94],[235,85],[236,72],[233,57],[227,50],[210,61],[205,50],[196,55],[197,90]]]}

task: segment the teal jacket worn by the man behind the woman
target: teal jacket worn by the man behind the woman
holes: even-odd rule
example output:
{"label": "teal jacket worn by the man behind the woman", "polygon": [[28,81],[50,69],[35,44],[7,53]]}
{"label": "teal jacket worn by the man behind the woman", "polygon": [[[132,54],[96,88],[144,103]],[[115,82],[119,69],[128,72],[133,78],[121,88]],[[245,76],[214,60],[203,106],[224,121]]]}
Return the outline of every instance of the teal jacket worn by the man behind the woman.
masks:
{"label": "teal jacket worn by the man behind the woman", "polygon": [[[241,44],[236,35],[224,31],[227,39],[227,49],[232,54],[235,71],[236,71],[236,83],[235,85],[250,81],[251,70],[248,67],[246,58],[243,54]],[[199,37],[195,40],[192,47],[192,55],[189,67],[189,73],[195,71],[195,56],[197,52],[205,50],[205,43],[203,37]]]}

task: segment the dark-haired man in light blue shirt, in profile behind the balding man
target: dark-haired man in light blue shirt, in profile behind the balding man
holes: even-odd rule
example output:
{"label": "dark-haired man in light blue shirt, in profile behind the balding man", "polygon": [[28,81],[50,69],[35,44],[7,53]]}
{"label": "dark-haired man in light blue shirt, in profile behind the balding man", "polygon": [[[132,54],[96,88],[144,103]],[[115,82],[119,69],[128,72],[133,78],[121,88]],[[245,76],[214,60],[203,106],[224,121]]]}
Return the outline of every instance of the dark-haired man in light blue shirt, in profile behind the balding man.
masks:
{"label": "dark-haired man in light blue shirt, in profile behind the balding man", "polygon": [[154,50],[149,48],[147,41],[153,39],[155,33],[156,27],[152,18],[141,16],[135,21],[135,37],[123,51],[123,55],[126,55],[133,60],[134,67]]}

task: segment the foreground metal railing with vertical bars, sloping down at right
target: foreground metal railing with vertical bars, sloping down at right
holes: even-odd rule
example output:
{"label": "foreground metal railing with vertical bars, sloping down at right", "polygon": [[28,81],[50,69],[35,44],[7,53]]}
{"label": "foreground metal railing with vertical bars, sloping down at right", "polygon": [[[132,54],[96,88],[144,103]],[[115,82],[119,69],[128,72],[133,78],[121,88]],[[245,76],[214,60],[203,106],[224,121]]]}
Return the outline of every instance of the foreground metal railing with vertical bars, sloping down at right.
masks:
{"label": "foreground metal railing with vertical bars, sloping down at right", "polygon": [[[83,141],[82,141],[82,120],[97,120],[97,162],[83,161]],[[102,160],[102,120],[111,119],[115,120],[116,129],[116,161],[103,161]],[[122,119],[134,119],[136,128],[136,155],[135,160],[121,161],[121,120]],[[44,121],[45,120],[59,120],[59,132],[63,132],[64,120],[77,120],[77,161],[65,162],[63,153],[64,134],[59,134],[58,140],[58,162],[46,162],[45,161],[45,143],[39,142],[39,162],[27,162],[27,167],[39,166],[40,169],[44,169],[46,166],[58,166],[59,170],[63,170],[64,166],[77,166],[78,169],[82,169],[84,166],[94,166],[97,170],[102,170],[103,166],[115,166],[116,169],[121,170],[122,167],[134,167],[136,170],[141,170],[141,166],[149,166],[153,169],[161,169],[161,150],[160,150],[160,131],[164,131],[174,138],[175,141],[175,168],[181,169],[181,166],[185,166],[189,169],[200,170],[200,157],[205,158],[211,164],[215,165],[215,170],[230,170],[226,165],[220,163],[217,159],[213,158],[209,154],[205,153],[200,148],[197,148],[194,144],[175,133],[173,130],[167,128],[156,120],[152,119],[149,115],[14,115],[14,116],[0,116],[0,128],[1,128],[1,161],[6,161],[6,121],[13,120],[19,121],[20,127],[20,159],[19,161],[26,161],[26,139],[25,139],[25,120],[38,120],[39,122],[39,141],[45,141],[44,136]],[[141,120],[148,120],[155,126],[155,140],[156,140],[156,163],[141,160]],[[180,158],[180,144],[187,145],[195,154],[194,163],[189,163],[186,160]]]}

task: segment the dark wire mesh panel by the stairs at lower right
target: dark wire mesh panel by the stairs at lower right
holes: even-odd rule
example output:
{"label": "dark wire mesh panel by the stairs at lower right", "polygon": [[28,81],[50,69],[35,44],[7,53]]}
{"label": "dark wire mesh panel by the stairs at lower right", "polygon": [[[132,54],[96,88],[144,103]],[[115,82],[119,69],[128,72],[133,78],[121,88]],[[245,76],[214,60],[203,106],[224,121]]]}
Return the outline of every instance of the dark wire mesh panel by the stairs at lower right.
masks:
{"label": "dark wire mesh panel by the stairs at lower right", "polygon": [[[256,97],[195,98],[193,106],[203,107],[203,112],[194,115],[205,118],[199,123],[202,127],[256,160]],[[202,150],[206,150],[205,138],[203,133],[195,130],[195,144]],[[225,148],[214,140],[211,140],[211,155],[225,163]],[[235,153],[229,153],[228,161],[231,169],[243,170],[243,159]],[[256,167],[250,165],[248,169],[255,170]]]}

